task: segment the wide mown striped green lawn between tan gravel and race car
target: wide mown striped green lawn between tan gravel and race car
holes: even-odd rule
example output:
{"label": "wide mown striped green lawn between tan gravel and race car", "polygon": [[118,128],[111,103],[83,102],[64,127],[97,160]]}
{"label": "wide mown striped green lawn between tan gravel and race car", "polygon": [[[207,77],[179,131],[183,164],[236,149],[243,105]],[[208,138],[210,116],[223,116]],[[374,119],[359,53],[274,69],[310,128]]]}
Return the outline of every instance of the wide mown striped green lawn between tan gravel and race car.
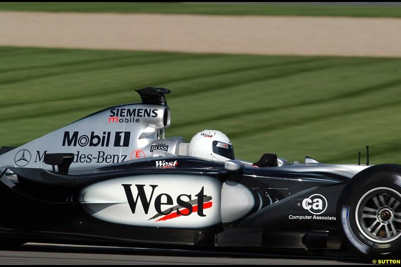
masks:
{"label": "wide mown striped green lawn between tan gravel and race car", "polygon": [[187,141],[217,129],[236,156],[401,163],[401,59],[0,48],[0,145],[17,146],[161,86]]}

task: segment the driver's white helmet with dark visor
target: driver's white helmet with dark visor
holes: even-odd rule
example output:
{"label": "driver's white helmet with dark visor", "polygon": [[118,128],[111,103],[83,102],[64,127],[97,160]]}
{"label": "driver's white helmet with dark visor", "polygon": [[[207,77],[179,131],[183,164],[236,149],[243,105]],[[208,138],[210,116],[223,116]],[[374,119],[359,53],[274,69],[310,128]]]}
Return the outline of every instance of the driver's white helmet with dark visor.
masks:
{"label": "driver's white helmet with dark visor", "polygon": [[204,130],[195,134],[189,143],[188,155],[223,162],[235,159],[230,139],[215,130]]}

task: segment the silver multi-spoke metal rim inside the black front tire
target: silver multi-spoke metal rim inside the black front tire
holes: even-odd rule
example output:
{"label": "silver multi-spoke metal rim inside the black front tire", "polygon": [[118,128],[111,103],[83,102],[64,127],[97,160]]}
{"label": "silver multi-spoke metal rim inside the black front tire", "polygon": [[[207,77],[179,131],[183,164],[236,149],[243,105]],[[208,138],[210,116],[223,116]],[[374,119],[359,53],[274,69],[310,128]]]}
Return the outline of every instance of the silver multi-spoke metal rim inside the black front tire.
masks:
{"label": "silver multi-spoke metal rim inside the black front tire", "polygon": [[359,231],[377,243],[391,242],[401,236],[401,194],[388,187],[367,191],[355,212]]}

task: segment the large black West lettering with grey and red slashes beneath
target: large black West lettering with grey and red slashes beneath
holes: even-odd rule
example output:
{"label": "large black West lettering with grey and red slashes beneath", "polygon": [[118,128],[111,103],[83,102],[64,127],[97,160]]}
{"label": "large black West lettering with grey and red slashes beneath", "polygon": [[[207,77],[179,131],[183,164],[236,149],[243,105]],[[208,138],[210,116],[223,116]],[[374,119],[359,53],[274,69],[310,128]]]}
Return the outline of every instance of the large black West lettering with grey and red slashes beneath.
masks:
{"label": "large black West lettering with grey and red slashes beneath", "polygon": [[[200,191],[196,195],[194,195],[196,197],[196,201],[192,200],[192,195],[190,194],[180,194],[175,199],[176,205],[174,205],[173,198],[167,193],[161,193],[157,196],[154,196],[154,191],[158,185],[149,185],[152,191],[150,194],[146,195],[145,185],[135,184],[136,190],[138,191],[135,197],[131,189],[132,184],[121,185],[124,187],[125,195],[127,196],[128,204],[133,214],[135,214],[138,209],[138,202],[141,203],[142,209],[145,214],[148,214],[149,207],[151,205],[154,206],[157,214],[149,218],[149,220],[164,215],[157,220],[162,221],[166,219],[172,219],[181,215],[188,216],[193,212],[196,212],[197,215],[200,217],[205,217],[206,215],[204,214],[204,209],[212,207],[212,202],[210,201],[212,197],[204,194],[204,187],[202,187],[202,189],[200,189]],[[165,207],[164,209],[162,209],[162,205],[169,205],[169,207]]]}

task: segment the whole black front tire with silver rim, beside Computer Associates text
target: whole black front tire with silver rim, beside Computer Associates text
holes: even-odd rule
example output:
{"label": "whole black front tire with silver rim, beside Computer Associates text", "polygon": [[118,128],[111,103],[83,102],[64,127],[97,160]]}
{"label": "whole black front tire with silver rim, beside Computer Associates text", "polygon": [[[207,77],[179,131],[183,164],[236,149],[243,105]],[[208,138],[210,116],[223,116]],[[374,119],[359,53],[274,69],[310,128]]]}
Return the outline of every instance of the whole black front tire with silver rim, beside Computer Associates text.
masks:
{"label": "whole black front tire with silver rim, beside Computer Associates text", "polygon": [[363,258],[399,256],[401,250],[401,166],[383,164],[356,174],[337,204],[346,245]]}

